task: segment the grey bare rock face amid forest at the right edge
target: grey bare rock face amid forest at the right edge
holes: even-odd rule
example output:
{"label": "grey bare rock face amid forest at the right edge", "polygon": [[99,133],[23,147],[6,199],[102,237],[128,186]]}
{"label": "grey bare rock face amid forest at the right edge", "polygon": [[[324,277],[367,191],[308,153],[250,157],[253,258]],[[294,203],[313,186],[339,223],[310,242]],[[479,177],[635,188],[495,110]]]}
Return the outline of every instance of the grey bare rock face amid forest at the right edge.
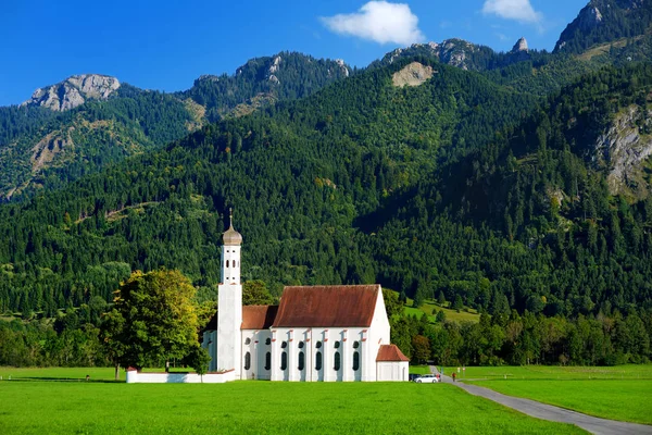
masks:
{"label": "grey bare rock face amid forest at the right edge", "polygon": [[598,138],[598,159],[609,170],[610,191],[642,198],[648,194],[642,164],[652,156],[652,112],[634,104],[616,116],[607,132]]}

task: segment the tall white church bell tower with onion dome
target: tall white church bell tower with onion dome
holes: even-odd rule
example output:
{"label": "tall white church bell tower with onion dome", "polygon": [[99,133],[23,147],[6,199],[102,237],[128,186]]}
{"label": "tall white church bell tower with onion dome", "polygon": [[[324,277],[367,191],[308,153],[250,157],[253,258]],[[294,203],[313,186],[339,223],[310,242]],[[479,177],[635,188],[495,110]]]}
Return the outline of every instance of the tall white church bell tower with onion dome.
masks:
{"label": "tall white church bell tower with onion dome", "polygon": [[229,226],[222,236],[222,283],[217,287],[217,370],[236,371],[240,378],[242,361],[242,285],[240,284],[240,246],[242,235],[234,229],[229,209]]}

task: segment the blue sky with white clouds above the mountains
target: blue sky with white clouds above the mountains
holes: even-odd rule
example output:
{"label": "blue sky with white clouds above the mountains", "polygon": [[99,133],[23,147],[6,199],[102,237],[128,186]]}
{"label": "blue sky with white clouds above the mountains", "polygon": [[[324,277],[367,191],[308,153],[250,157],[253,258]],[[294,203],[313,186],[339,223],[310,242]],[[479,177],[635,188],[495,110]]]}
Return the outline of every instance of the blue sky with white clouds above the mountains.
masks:
{"label": "blue sky with white clouds above the mountains", "polygon": [[416,41],[459,37],[552,50],[588,0],[0,0],[0,105],[73,74],[187,89],[201,74],[290,50],[366,66]]}

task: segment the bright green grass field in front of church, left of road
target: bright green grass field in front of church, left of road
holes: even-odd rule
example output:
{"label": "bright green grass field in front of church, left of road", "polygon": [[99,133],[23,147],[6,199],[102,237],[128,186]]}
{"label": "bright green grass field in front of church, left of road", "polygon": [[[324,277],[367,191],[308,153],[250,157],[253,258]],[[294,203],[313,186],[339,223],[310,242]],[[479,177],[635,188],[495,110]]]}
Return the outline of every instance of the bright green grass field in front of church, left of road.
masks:
{"label": "bright green grass field in front of church, left of road", "polygon": [[[102,371],[103,370],[103,371]],[[20,373],[1,369],[1,373]],[[111,369],[46,369],[43,377],[111,380]],[[446,384],[124,384],[0,382],[2,434],[579,434]],[[32,380],[26,380],[30,377]],[[7,377],[3,377],[7,380]]]}

